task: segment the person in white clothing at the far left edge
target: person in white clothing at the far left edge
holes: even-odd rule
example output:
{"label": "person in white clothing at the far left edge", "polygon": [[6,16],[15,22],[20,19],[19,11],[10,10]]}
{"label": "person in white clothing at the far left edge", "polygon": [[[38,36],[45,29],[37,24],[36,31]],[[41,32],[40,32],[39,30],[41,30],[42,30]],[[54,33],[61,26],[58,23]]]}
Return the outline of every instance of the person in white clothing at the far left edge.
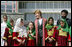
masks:
{"label": "person in white clothing at the far left edge", "polygon": [[3,22],[1,23],[1,46],[4,46],[4,40],[2,37],[4,37],[5,28],[7,27],[7,19],[7,15],[3,15]]}

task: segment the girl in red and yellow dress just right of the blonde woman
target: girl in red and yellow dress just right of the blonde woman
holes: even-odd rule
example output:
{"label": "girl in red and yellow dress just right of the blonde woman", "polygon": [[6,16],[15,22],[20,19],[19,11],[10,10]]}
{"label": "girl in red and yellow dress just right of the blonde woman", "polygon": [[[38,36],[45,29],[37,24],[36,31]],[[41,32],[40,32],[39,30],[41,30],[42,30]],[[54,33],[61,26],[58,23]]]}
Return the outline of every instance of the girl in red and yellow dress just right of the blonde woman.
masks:
{"label": "girl in red and yellow dress just right of the blonde woman", "polygon": [[50,17],[45,29],[46,46],[55,46],[56,44],[56,27],[54,26],[54,19]]}

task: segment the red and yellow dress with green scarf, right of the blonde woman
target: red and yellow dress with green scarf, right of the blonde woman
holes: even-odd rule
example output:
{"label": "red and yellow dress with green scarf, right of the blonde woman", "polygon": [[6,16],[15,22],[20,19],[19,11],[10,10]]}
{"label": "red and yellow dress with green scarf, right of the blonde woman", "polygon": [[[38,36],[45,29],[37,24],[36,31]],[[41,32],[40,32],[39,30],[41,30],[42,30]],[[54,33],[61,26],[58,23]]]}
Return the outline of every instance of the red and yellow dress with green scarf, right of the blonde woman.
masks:
{"label": "red and yellow dress with green scarf, right of the blonde woman", "polygon": [[[54,26],[53,24],[46,24],[46,29],[45,29],[45,38],[48,38],[46,39],[45,41],[45,45],[46,46],[55,46],[56,44],[56,26]],[[53,39],[52,42],[49,42],[49,38]]]}

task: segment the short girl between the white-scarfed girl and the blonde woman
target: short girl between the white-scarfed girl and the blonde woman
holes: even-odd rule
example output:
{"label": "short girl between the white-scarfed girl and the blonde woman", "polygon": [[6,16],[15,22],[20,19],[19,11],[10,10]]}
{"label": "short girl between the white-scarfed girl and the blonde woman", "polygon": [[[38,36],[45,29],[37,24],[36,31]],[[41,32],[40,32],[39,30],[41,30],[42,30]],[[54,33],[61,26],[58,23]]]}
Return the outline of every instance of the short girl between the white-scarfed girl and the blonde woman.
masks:
{"label": "short girl between the white-scarfed girl and the blonde woman", "polygon": [[29,27],[27,27],[27,30],[28,30],[27,46],[35,46],[35,29],[33,22],[29,23]]}

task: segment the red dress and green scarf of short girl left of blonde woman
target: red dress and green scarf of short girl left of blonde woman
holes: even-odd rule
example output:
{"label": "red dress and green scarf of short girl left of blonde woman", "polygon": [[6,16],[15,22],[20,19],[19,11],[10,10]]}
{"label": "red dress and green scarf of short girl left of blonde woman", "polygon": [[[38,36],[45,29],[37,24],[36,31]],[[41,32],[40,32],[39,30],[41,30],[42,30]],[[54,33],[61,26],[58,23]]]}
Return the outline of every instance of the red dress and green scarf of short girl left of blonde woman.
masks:
{"label": "red dress and green scarf of short girl left of blonde woman", "polygon": [[[30,32],[30,30],[28,29],[27,32]],[[35,36],[35,29],[33,29],[32,32],[30,32],[30,33],[28,34],[27,46],[36,46],[35,38],[32,37],[31,34],[32,34],[33,36]]]}

